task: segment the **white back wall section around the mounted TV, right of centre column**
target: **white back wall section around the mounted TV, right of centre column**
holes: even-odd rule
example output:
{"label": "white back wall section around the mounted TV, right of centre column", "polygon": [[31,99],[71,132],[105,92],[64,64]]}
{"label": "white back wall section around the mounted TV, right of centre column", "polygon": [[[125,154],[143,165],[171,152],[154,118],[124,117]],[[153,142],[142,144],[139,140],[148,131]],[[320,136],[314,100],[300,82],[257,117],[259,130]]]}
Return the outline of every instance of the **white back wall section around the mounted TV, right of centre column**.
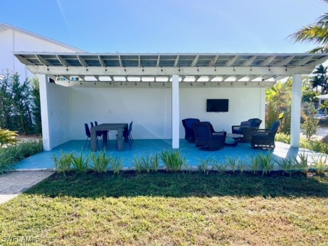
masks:
{"label": "white back wall section around the mounted TV, right of centre column", "polygon": [[[263,95],[264,91],[264,95]],[[198,118],[210,121],[215,131],[231,133],[231,126],[250,118],[262,118],[265,114],[261,88],[182,88],[180,89],[180,119]],[[206,112],[206,99],[229,99],[228,112]],[[262,112],[263,111],[263,112]],[[261,127],[264,128],[262,123]],[[180,138],[185,130],[180,125]]]}

